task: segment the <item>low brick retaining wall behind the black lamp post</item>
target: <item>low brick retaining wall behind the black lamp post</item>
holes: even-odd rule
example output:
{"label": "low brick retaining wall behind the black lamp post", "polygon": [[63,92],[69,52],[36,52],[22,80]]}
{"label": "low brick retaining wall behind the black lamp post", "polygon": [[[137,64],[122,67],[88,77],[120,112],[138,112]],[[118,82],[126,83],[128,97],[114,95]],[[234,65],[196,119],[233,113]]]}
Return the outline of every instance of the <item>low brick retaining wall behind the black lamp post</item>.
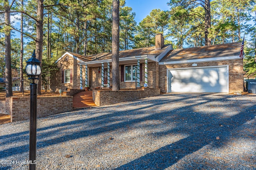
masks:
{"label": "low brick retaining wall behind the black lamp post", "polygon": [[[72,96],[38,97],[37,117],[72,111],[72,100]],[[30,118],[29,97],[11,97],[10,103],[11,122],[28,120]]]}

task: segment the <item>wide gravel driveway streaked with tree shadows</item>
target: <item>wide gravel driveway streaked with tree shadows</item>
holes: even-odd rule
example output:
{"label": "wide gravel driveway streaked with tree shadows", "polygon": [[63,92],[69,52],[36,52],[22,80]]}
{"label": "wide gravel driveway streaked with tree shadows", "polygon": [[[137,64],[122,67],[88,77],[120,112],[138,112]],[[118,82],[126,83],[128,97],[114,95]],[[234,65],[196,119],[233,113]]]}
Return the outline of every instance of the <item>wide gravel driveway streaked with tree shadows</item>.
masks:
{"label": "wide gravel driveway streaked with tree shadows", "polygon": [[[37,124],[38,170],[256,170],[255,95],[164,94]],[[0,129],[0,169],[27,170],[29,121]]]}

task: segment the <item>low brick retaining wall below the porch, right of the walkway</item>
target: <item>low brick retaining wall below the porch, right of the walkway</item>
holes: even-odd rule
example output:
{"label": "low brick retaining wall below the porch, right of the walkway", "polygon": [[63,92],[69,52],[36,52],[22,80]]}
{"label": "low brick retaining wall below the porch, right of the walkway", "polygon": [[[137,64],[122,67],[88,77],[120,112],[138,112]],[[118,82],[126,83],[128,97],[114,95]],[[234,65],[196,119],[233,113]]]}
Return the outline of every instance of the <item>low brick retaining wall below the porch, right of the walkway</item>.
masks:
{"label": "low brick retaining wall below the porch, right of the walkway", "polygon": [[96,105],[104,106],[110,104],[117,104],[120,102],[127,102],[156,96],[160,94],[159,88],[142,88],[141,90],[93,90],[92,96]]}

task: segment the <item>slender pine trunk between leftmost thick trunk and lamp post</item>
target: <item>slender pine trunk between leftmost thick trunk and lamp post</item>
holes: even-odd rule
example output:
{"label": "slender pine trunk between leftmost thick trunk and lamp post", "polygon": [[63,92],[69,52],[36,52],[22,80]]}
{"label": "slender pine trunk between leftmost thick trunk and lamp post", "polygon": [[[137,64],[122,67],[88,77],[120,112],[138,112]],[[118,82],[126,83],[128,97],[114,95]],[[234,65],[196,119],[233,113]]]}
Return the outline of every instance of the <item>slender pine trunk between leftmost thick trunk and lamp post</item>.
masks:
{"label": "slender pine trunk between leftmost thick trunk and lamp post", "polygon": [[[23,10],[23,0],[21,0],[22,10]],[[23,32],[23,14],[20,14],[20,32]],[[23,34],[20,33],[20,92],[22,92],[22,95],[24,89],[23,89]]]}

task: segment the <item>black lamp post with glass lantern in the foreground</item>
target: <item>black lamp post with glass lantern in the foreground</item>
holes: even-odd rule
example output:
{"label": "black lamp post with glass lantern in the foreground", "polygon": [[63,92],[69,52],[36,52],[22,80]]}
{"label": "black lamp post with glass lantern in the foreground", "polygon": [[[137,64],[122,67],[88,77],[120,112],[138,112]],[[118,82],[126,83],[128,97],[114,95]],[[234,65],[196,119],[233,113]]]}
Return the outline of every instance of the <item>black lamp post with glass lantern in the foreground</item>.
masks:
{"label": "black lamp post with glass lantern in the foreground", "polygon": [[40,61],[36,59],[35,50],[32,57],[26,61],[26,74],[28,79],[32,80],[30,83],[30,131],[29,131],[29,170],[36,170],[36,111],[37,111],[37,84],[41,74]]}

